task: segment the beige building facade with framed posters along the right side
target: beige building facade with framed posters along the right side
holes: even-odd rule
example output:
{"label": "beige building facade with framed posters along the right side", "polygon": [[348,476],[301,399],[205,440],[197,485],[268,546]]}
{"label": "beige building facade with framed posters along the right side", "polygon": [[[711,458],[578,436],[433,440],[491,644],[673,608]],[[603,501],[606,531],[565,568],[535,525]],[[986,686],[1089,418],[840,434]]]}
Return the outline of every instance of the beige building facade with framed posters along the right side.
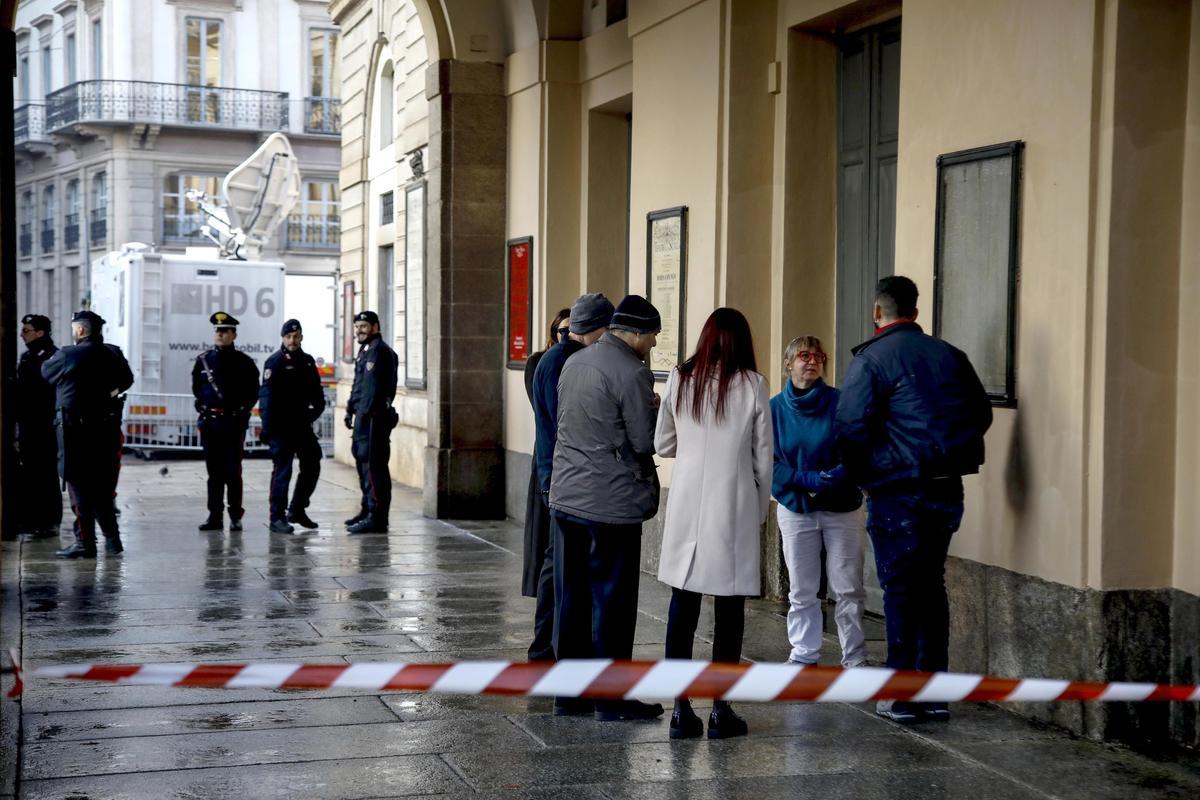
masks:
{"label": "beige building facade with framed posters along the right side", "polygon": [[[523,515],[534,434],[514,341],[540,349],[580,293],[677,303],[684,353],[737,307],[779,386],[800,333],[828,343],[835,380],[869,333],[870,285],[898,272],[997,401],[952,547],[952,666],[1200,682],[1200,4],[331,13],[343,307],[386,308],[421,378],[397,401],[394,475],[428,515]],[[679,209],[682,247],[660,248]],[[773,529],[763,551],[779,594]],[[1194,706],[1026,710],[1200,744]]]}

